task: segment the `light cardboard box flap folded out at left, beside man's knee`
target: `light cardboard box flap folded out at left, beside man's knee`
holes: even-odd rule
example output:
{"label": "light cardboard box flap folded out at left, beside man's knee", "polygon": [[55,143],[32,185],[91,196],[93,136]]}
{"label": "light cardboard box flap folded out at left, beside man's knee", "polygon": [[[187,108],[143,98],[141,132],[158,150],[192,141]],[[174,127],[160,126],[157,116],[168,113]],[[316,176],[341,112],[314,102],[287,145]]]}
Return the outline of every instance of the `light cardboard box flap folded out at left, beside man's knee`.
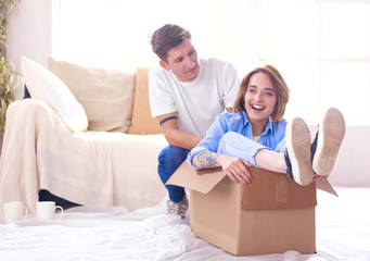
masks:
{"label": "light cardboard box flap folded out at left, beside man's knee", "polygon": [[195,171],[184,161],[166,185],[177,185],[203,194],[209,192],[224,177],[225,172],[219,169]]}

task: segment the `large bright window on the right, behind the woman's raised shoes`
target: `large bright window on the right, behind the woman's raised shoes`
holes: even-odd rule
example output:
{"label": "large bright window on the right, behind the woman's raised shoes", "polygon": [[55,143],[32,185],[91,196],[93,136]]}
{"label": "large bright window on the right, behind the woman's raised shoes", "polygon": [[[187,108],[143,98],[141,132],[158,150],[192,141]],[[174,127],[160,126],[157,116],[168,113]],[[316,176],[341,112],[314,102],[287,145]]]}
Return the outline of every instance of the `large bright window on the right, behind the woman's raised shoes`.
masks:
{"label": "large bright window on the right, behind the woman's raised shoes", "polygon": [[370,2],[265,1],[264,55],[291,87],[288,114],[310,123],[337,107],[370,123]]}

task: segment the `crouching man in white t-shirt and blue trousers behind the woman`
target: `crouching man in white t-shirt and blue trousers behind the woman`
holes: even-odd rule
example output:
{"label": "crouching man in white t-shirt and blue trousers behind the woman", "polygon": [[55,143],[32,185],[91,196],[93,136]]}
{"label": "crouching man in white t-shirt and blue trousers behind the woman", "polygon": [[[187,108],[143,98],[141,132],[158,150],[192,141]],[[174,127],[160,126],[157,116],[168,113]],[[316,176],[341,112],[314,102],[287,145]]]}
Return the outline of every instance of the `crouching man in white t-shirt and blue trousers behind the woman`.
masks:
{"label": "crouching man in white t-shirt and blue trousers behind the woman", "polygon": [[[190,32],[178,25],[155,30],[151,45],[161,60],[149,75],[152,116],[158,120],[169,144],[158,156],[158,174],[165,184],[205,136],[216,115],[231,111],[240,79],[226,61],[199,60]],[[167,213],[184,219],[184,189],[173,185],[166,188]]]}

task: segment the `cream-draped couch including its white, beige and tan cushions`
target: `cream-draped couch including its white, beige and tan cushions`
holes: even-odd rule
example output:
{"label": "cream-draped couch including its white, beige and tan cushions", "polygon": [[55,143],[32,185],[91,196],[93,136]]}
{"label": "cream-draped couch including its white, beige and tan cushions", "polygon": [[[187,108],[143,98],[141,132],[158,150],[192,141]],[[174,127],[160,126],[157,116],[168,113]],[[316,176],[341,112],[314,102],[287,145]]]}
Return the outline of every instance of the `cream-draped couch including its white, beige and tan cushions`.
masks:
{"label": "cream-draped couch including its white, beige and tan cushions", "polygon": [[160,203],[166,189],[157,154],[167,141],[150,114],[149,69],[93,67],[50,57],[47,70],[23,59],[33,98],[11,103],[7,112],[0,208],[20,200],[34,213],[40,190],[82,206],[136,210]]}

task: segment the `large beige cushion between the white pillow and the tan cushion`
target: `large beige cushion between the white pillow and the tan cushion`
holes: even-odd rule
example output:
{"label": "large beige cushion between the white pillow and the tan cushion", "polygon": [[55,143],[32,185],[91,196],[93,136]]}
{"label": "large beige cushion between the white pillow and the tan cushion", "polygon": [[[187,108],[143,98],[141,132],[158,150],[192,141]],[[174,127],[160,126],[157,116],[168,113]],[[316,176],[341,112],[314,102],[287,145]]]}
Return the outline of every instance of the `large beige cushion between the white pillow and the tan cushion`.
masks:
{"label": "large beige cushion between the white pillow and the tan cushion", "polygon": [[127,133],[131,125],[135,70],[85,66],[48,60],[49,70],[68,86],[85,108],[89,130]]}

